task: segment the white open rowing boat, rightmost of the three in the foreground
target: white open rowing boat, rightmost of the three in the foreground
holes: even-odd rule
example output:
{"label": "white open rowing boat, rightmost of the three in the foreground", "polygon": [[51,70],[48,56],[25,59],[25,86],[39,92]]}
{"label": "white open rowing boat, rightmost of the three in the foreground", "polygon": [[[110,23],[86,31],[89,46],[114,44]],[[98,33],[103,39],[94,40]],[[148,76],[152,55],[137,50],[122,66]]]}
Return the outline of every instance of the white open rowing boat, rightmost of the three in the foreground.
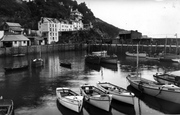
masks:
{"label": "white open rowing boat, rightmost of the three in the foreground", "polygon": [[134,105],[134,94],[122,87],[109,82],[98,82],[97,87],[107,94],[111,94],[115,100]]}

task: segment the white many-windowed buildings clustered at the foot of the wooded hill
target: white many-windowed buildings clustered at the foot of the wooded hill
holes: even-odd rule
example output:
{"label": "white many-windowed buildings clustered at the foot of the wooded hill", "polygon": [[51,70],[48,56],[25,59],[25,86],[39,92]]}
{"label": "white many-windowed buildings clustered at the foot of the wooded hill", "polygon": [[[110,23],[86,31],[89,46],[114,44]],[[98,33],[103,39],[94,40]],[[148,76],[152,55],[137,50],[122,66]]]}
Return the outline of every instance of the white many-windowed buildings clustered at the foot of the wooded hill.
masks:
{"label": "white many-windowed buildings clustered at the foot of the wooded hill", "polygon": [[83,30],[82,14],[78,11],[72,11],[71,20],[57,20],[55,18],[42,17],[38,22],[38,30],[45,38],[45,44],[51,44],[59,41],[59,32]]}

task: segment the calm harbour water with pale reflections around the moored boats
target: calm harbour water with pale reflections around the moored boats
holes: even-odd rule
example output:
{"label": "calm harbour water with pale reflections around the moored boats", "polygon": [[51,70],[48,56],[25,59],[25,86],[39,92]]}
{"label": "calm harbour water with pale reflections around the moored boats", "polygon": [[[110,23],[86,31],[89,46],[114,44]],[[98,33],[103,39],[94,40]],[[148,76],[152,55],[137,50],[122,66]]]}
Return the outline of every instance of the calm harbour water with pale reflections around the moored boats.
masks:
{"label": "calm harbour water with pale reflections around the moored boats", "polygon": [[[108,81],[123,88],[135,91],[129,86],[126,76],[136,74],[136,58],[118,54],[118,65],[94,66],[85,64],[86,52],[69,51],[42,54],[45,64],[41,68],[32,68],[30,62],[38,55],[0,58],[0,95],[14,101],[15,115],[74,115],[56,100],[56,87],[70,87],[79,93],[79,87],[88,83],[96,85],[98,81]],[[72,68],[60,66],[68,61]],[[29,64],[27,70],[4,72],[4,67]],[[157,72],[179,70],[178,63],[165,63],[139,59],[141,77],[154,80]],[[135,91],[136,92],[136,91]],[[134,106],[113,101],[111,112],[102,111],[86,104],[82,115],[164,115],[180,114],[180,104],[160,100],[137,92]]]}

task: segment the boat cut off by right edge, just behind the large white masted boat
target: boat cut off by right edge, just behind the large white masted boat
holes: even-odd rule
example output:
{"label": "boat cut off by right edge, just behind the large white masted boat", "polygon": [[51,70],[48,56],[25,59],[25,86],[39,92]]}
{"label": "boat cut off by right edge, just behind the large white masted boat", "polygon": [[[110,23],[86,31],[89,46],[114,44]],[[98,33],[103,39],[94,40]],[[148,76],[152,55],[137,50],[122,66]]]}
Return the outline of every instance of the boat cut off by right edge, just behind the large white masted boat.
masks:
{"label": "boat cut off by right edge, just behind the large white masted boat", "polygon": [[162,84],[180,85],[180,71],[156,73],[153,77],[156,81]]}

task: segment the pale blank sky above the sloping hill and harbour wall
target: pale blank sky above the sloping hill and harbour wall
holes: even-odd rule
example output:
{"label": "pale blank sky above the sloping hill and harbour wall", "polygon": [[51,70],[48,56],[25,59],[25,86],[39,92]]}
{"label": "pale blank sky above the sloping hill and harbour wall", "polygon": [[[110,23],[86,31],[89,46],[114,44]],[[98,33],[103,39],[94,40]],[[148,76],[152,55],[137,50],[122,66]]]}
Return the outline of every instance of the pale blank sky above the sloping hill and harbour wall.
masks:
{"label": "pale blank sky above the sloping hill and harbour wall", "polygon": [[[180,38],[180,0],[76,0],[95,17],[148,37]],[[177,35],[177,36],[176,36]]]}

